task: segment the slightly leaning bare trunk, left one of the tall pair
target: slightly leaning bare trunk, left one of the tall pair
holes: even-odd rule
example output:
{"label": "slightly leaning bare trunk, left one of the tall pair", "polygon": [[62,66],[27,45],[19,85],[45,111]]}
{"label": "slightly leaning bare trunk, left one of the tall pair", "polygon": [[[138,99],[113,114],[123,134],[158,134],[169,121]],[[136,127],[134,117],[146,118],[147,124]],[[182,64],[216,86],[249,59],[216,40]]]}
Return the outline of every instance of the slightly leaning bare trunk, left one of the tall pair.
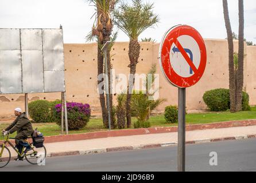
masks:
{"label": "slightly leaning bare trunk, left one of the tall pair", "polygon": [[235,87],[235,70],[234,70],[234,45],[232,38],[232,30],[230,25],[230,18],[228,15],[227,0],[223,0],[223,13],[227,30],[228,41],[228,70],[229,70],[229,87],[230,87],[230,112],[236,112],[236,87]]}

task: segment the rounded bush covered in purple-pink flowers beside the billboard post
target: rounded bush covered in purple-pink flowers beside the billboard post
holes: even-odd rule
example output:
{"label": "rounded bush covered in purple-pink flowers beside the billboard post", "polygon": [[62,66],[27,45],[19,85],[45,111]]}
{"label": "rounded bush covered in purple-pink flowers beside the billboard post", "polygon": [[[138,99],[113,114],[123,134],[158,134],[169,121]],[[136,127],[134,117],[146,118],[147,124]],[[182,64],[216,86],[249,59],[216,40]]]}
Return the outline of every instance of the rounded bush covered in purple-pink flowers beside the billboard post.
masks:
{"label": "rounded bush covered in purple-pink flowers beside the billboard post", "polygon": [[[55,116],[57,118],[56,123],[61,126],[61,104],[55,106]],[[90,105],[67,102],[67,113],[68,113],[68,129],[79,130],[87,125],[91,117]]]}

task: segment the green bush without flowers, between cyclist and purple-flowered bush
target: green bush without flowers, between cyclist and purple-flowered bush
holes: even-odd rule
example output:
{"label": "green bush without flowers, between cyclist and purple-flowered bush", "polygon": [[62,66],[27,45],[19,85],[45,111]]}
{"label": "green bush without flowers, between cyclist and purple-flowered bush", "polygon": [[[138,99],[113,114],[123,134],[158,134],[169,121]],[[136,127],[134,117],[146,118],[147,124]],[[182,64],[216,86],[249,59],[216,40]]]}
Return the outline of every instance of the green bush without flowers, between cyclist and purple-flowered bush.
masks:
{"label": "green bush without flowers, between cyclist and purple-flowered bush", "polygon": [[32,118],[32,122],[52,122],[49,101],[36,100],[28,104],[29,116]]}

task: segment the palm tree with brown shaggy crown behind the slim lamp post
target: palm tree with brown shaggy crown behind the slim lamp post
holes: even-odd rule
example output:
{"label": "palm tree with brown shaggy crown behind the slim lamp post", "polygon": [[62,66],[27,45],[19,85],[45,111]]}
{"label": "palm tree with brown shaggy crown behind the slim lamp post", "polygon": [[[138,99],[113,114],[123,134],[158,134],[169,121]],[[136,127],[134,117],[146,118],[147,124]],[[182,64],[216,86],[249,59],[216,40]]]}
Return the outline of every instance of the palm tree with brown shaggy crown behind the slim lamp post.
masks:
{"label": "palm tree with brown shaggy crown behind the slim lamp post", "polygon": [[[114,10],[114,6],[118,3],[118,0],[87,0],[95,7],[95,22],[92,26],[92,31],[87,35],[87,41],[92,41],[95,37],[98,42],[98,75],[103,74],[103,53],[101,48],[107,41],[112,41],[111,33],[113,29],[113,21],[111,18],[111,12]],[[114,35],[116,37],[116,34]],[[110,78],[111,62],[110,62],[110,47],[107,50],[107,64],[108,64],[108,78]],[[98,81],[99,91],[104,90],[104,86],[99,85],[102,81]],[[108,91],[111,91],[111,79],[108,79]],[[108,128],[106,101],[104,93],[99,94],[100,106],[102,108],[103,125]],[[110,93],[110,114],[113,113],[113,95]],[[111,128],[114,128],[113,117],[111,116]]]}

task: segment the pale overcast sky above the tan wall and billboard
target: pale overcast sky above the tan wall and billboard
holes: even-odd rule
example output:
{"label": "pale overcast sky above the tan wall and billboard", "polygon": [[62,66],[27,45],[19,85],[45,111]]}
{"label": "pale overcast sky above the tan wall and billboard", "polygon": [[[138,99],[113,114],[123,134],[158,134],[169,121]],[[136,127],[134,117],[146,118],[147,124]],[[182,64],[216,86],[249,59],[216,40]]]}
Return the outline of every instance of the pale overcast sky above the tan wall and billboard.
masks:
{"label": "pale overcast sky above the tan wall and billboard", "polygon": [[[131,0],[124,0],[128,3]],[[161,42],[165,31],[177,24],[194,27],[203,38],[227,37],[222,0],[143,0],[154,3],[160,22],[145,30],[141,38]],[[238,34],[238,0],[228,0],[232,31]],[[256,43],[256,1],[244,0],[245,38]],[[95,9],[87,0],[0,0],[0,28],[59,28],[63,26],[64,43],[86,43]],[[118,30],[117,41],[129,41]]]}

